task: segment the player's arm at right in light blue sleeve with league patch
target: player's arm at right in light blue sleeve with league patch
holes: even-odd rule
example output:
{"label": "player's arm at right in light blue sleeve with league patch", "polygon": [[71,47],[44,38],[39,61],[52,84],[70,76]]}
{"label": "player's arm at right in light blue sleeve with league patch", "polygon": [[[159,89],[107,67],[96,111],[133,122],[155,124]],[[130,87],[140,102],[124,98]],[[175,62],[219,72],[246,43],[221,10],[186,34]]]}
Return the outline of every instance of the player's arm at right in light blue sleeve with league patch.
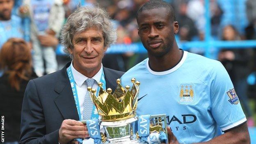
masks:
{"label": "player's arm at right in light blue sleeve with league patch", "polygon": [[250,143],[245,114],[226,69],[220,62],[217,62],[213,64],[209,76],[211,77],[208,84],[211,101],[210,111],[224,134],[213,138],[208,143]]}

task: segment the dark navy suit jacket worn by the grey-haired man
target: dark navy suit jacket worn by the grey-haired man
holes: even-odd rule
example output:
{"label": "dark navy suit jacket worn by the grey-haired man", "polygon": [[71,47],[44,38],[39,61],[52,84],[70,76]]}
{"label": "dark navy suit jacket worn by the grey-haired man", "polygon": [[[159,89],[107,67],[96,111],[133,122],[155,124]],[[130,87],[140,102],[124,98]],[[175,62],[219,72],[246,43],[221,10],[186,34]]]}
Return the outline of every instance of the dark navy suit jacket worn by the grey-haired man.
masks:
{"label": "dark navy suit jacket worn by the grey-haired man", "polygon": [[[34,80],[25,90],[20,144],[58,144],[64,119],[79,120],[66,68]],[[103,67],[106,88],[115,89],[123,72]]]}

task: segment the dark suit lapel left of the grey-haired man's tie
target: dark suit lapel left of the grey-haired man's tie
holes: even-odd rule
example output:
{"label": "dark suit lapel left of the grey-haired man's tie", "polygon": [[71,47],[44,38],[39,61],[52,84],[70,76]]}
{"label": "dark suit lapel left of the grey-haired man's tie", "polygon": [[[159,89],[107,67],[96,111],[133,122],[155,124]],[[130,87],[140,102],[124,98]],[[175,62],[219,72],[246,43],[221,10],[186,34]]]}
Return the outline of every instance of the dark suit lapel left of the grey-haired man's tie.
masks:
{"label": "dark suit lapel left of the grey-haired man's tie", "polygon": [[59,96],[55,98],[54,102],[64,119],[79,120],[71,85],[66,73],[66,68],[70,64],[71,62],[66,64],[66,66],[61,70],[61,74],[59,75],[59,79],[56,82],[54,89],[59,94]]}

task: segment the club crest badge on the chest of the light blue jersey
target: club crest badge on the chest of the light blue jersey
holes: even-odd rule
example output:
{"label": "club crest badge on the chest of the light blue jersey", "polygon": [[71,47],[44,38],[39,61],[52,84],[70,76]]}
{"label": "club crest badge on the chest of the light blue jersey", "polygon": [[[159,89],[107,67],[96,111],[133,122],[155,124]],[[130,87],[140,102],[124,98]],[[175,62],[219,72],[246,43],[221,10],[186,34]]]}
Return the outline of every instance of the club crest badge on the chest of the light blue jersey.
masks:
{"label": "club crest badge on the chest of the light blue jersey", "polygon": [[194,93],[194,84],[180,84],[179,85],[179,94],[178,94],[178,103],[181,104],[193,104],[196,102],[196,95]]}

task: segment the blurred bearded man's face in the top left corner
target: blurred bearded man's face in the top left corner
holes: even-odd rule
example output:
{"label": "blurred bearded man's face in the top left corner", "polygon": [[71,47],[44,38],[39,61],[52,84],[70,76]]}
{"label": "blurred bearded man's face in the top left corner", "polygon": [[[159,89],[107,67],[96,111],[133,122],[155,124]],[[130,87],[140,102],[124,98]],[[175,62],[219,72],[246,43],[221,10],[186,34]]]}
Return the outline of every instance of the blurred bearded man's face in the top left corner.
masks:
{"label": "blurred bearded man's face in the top left corner", "polygon": [[11,19],[11,9],[14,6],[14,0],[0,0],[0,20]]}

